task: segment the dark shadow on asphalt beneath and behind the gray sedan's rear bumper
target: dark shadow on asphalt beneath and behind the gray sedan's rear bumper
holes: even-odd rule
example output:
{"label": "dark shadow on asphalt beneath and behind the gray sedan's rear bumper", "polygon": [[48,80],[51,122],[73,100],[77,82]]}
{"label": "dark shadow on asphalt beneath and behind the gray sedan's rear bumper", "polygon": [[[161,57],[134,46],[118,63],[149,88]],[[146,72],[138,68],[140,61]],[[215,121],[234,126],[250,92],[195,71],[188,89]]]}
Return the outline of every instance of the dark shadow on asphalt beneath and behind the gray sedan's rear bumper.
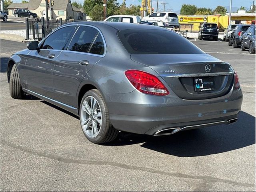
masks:
{"label": "dark shadow on asphalt beneath and behind the gray sedan's rear bumper", "polygon": [[141,147],[179,157],[206,156],[236,150],[255,144],[255,117],[241,111],[235,124],[181,131],[169,136],[120,132],[118,139],[107,145],[139,143],[143,143]]}

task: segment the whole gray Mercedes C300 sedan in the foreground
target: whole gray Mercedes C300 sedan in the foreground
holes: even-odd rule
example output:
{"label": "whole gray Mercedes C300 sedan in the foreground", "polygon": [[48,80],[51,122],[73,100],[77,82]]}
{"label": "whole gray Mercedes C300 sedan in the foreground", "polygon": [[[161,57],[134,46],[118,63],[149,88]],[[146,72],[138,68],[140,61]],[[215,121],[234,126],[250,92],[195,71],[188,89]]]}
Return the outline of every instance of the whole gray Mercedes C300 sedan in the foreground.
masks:
{"label": "whole gray Mercedes C300 sedan in the foreground", "polygon": [[8,61],[10,95],[32,94],[80,117],[91,142],[119,131],[168,135],[237,121],[232,66],[158,26],[75,22]]}

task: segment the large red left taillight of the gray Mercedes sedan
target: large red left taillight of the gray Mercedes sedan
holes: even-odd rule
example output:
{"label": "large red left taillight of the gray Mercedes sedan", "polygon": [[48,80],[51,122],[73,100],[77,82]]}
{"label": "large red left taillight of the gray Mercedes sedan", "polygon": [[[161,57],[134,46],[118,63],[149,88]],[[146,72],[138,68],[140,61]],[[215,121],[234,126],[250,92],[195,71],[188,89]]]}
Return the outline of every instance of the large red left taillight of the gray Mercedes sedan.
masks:
{"label": "large red left taillight of the gray Mercedes sedan", "polygon": [[159,96],[170,94],[164,84],[152,74],[139,70],[127,70],[124,74],[140,92]]}

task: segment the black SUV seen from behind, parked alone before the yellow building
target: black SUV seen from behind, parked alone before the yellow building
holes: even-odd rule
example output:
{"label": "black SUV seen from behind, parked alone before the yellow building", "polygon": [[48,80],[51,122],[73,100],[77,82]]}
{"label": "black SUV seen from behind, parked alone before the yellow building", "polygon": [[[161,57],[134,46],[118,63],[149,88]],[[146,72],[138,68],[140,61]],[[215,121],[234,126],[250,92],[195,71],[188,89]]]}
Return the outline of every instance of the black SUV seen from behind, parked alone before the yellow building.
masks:
{"label": "black SUV seen from behind, parked alone before the yellow building", "polygon": [[203,23],[199,28],[199,40],[202,40],[203,38],[213,38],[215,41],[218,41],[219,29],[216,23]]}

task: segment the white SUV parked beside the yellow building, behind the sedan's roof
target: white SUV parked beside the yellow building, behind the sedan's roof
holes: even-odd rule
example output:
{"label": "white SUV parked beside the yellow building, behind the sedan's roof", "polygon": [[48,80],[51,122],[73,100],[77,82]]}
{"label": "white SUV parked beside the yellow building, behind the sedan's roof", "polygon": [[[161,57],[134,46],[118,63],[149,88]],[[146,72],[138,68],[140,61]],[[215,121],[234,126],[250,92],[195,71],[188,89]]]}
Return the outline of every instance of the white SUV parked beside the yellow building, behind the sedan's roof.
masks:
{"label": "white SUV parked beside the yellow building, behind the sedan's roof", "polygon": [[179,27],[179,20],[176,13],[172,12],[154,12],[150,16],[142,18],[144,21],[153,22],[153,21],[162,21],[168,23],[170,26],[175,28]]}

